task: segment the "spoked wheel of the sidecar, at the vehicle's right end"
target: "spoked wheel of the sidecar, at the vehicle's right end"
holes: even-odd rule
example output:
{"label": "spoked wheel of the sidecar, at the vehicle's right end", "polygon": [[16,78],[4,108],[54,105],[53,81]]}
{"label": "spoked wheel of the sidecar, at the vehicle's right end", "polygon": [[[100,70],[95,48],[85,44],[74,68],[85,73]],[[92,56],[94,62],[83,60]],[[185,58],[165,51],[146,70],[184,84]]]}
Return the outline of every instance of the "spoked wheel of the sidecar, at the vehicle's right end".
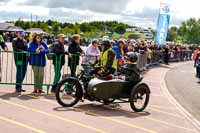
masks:
{"label": "spoked wheel of the sidecar, at the vehicle's right end", "polygon": [[135,112],[143,111],[149,103],[150,91],[147,85],[140,84],[133,88],[130,96],[130,105]]}

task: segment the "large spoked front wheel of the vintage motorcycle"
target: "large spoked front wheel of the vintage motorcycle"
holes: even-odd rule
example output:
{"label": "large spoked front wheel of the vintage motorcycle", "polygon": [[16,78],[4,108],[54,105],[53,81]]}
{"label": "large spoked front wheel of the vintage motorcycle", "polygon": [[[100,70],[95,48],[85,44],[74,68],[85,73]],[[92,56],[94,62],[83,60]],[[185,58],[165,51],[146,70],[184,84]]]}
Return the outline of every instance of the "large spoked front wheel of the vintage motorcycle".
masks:
{"label": "large spoked front wheel of the vintage motorcycle", "polygon": [[63,79],[56,88],[56,100],[63,107],[72,107],[80,99],[82,89],[72,79]]}

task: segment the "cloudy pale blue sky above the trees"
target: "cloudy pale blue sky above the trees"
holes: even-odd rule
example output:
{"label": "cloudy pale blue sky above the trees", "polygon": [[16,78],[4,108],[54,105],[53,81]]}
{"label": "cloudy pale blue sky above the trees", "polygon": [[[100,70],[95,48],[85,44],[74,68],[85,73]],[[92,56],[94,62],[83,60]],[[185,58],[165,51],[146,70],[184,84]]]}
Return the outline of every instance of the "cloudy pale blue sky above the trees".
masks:
{"label": "cloudy pale blue sky above the trees", "polygon": [[0,0],[0,21],[53,19],[61,22],[116,20],[130,25],[155,27],[160,2],[171,5],[172,25],[199,18],[198,0]]}

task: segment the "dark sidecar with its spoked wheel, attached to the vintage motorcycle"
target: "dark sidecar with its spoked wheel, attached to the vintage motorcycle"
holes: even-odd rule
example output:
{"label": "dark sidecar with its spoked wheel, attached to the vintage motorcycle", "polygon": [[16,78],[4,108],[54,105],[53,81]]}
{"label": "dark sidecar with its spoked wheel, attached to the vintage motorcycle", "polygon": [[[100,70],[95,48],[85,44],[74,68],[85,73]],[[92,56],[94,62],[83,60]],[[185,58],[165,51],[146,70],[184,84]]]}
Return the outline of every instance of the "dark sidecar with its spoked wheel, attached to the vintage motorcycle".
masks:
{"label": "dark sidecar with its spoked wheel, attached to the vintage motorcycle", "polygon": [[[90,80],[86,90],[90,96],[102,100],[104,104],[130,102],[131,108],[135,112],[140,112],[146,108],[150,97],[148,85],[140,81],[134,83],[120,79],[101,80],[94,78]],[[143,103],[139,107],[137,104],[141,101]]]}

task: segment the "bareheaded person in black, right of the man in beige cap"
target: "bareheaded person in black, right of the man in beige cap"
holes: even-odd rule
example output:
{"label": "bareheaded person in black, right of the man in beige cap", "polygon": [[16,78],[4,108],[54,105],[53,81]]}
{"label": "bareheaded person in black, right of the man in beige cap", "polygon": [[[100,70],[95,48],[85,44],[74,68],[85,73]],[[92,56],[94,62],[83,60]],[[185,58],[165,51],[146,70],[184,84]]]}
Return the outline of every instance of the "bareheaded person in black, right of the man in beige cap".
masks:
{"label": "bareheaded person in black, right of the man in beige cap", "polygon": [[84,53],[80,47],[80,40],[80,35],[73,35],[72,42],[69,44],[68,48],[68,52],[71,54],[71,56],[68,57],[68,66],[70,67],[72,77],[76,77],[76,69],[80,59],[79,56]]}

